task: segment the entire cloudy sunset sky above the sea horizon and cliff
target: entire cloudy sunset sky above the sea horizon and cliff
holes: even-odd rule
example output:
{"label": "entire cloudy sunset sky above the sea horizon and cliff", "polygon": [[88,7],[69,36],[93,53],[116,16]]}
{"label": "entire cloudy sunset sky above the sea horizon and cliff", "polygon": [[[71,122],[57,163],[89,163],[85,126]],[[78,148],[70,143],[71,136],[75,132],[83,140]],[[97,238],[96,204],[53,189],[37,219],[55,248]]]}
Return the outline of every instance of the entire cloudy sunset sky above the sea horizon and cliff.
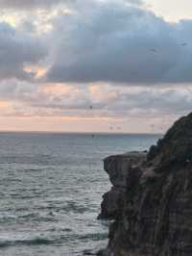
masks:
{"label": "entire cloudy sunset sky above the sea horizon and cliff", "polygon": [[192,109],[189,0],[0,0],[0,131],[163,133]]}

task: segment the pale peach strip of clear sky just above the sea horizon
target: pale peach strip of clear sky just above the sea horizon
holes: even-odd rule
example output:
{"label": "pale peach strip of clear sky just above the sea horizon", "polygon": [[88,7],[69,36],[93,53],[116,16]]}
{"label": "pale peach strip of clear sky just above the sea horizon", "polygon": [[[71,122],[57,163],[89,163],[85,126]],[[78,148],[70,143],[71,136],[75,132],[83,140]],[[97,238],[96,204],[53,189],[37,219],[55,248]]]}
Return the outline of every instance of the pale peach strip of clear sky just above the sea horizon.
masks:
{"label": "pale peach strip of clear sky just above the sea horizon", "polygon": [[[71,118],[71,117],[3,117],[0,116],[0,132],[72,132],[72,133],[164,133],[175,121],[171,118],[154,118],[155,125],[145,116],[138,122],[137,116],[124,119]],[[161,129],[161,127],[163,129]],[[119,129],[120,128],[120,129]]]}

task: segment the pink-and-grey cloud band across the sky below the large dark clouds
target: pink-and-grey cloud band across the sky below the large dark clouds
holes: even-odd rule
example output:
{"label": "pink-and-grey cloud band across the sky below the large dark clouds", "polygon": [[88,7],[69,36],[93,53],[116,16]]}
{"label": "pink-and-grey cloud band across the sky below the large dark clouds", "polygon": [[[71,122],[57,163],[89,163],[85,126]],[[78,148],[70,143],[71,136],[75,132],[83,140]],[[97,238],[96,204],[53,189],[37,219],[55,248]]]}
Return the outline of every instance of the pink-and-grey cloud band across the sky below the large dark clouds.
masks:
{"label": "pink-and-grey cloud band across the sky below the large dark clouds", "polygon": [[[153,88],[93,84],[41,86],[15,79],[0,83],[0,115],[78,116],[127,119],[179,116],[192,108],[188,86]],[[9,103],[9,104],[8,104]],[[90,106],[91,109],[90,109]]]}

